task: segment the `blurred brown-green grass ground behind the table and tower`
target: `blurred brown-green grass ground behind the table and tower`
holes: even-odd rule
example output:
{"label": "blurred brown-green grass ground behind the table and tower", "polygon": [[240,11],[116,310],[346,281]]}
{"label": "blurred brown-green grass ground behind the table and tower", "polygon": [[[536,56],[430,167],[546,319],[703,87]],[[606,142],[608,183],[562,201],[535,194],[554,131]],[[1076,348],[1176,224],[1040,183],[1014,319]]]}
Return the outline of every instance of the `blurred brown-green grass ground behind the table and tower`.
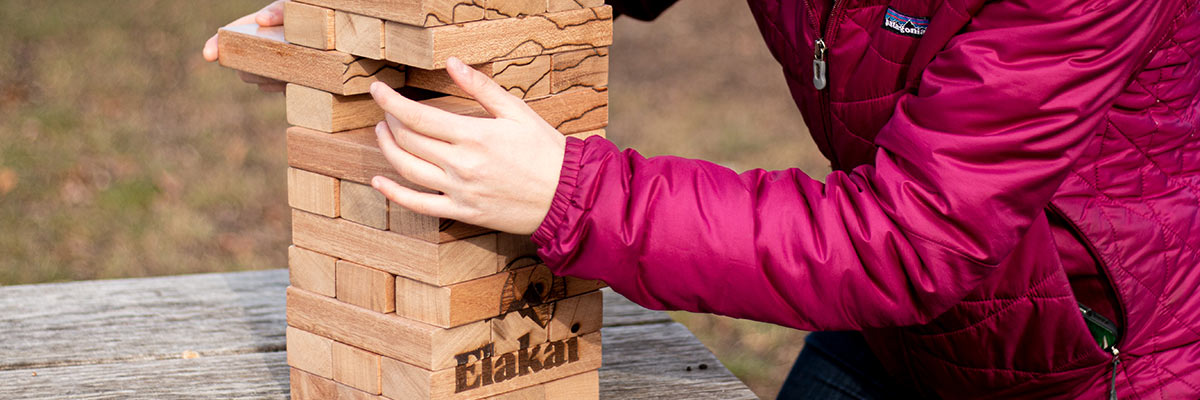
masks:
{"label": "blurred brown-green grass ground behind the table and tower", "polygon": [[[0,285],[286,267],[283,97],[199,56],[265,2],[0,0]],[[744,2],[614,30],[613,142],[827,173]],[[763,398],[803,340],[672,315]]]}

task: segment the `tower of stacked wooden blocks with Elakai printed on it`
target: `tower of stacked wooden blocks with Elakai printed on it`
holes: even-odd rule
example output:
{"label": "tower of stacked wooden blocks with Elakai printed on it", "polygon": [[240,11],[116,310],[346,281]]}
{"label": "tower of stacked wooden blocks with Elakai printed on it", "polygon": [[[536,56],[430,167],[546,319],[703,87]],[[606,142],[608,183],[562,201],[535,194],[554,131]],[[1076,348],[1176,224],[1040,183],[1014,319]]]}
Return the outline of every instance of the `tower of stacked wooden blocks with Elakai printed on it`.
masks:
{"label": "tower of stacked wooden blocks with Elakai printed on it", "polygon": [[[612,11],[596,0],[301,0],[284,26],[229,26],[221,64],[284,80],[288,364],[296,399],[588,399],[602,285],[553,276],[528,237],[419,215],[368,186],[403,181],[367,95],[488,117],[457,56],[564,135],[604,135]],[[419,89],[419,90],[414,90]],[[424,190],[424,189],[422,189]]]}

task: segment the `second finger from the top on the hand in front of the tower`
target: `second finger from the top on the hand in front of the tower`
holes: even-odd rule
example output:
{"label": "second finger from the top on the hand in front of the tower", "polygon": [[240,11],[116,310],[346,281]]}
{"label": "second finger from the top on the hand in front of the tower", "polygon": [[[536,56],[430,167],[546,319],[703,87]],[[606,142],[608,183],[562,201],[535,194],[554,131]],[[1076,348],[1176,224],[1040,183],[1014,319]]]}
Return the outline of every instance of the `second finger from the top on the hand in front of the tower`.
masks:
{"label": "second finger from the top on the hand in front of the tower", "polygon": [[412,101],[379,82],[371,84],[371,97],[402,126],[449,143],[460,142],[463,138],[462,127],[472,120]]}

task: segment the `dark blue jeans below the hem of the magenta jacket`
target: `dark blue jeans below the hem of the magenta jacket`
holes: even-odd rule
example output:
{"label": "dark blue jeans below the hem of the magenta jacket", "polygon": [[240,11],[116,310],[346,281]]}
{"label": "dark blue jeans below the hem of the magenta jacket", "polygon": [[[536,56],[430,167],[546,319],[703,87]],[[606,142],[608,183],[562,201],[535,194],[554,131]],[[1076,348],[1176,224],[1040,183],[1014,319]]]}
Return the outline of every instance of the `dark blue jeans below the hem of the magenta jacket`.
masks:
{"label": "dark blue jeans below the hem of the magenta jacket", "polygon": [[814,332],[787,374],[779,399],[917,399],[892,382],[858,332]]}

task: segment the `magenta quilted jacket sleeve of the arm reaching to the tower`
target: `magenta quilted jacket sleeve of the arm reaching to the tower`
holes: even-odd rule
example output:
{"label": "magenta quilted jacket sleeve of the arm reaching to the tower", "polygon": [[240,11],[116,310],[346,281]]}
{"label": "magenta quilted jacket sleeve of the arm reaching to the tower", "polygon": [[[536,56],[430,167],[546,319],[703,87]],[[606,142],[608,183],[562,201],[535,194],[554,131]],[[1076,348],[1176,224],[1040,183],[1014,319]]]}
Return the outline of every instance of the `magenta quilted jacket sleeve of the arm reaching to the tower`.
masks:
{"label": "magenta quilted jacket sleeve of the arm reaching to the tower", "polygon": [[534,240],[557,273],[648,308],[810,330],[928,322],[1043,213],[1170,24],[1160,2],[988,2],[900,98],[875,165],[824,183],[570,139]]}

